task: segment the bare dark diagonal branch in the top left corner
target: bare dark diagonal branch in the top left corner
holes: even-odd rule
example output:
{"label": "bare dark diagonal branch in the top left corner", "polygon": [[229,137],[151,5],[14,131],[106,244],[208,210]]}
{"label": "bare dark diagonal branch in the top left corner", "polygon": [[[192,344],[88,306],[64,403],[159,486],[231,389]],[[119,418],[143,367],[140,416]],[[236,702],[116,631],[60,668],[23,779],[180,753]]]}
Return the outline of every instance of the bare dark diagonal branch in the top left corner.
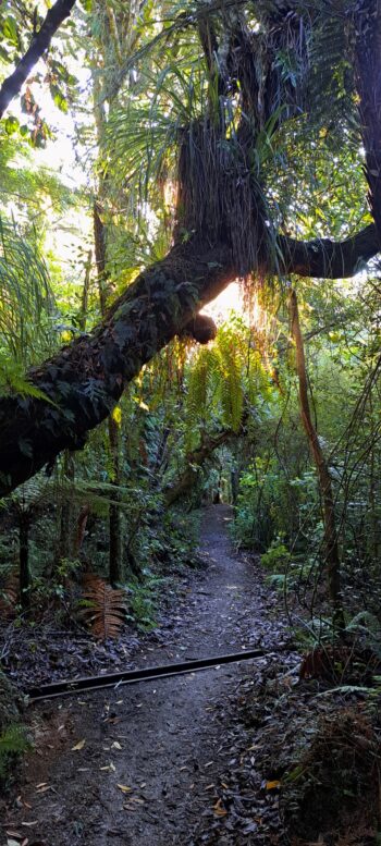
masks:
{"label": "bare dark diagonal branch in the top left corner", "polygon": [[34,37],[30,47],[19,62],[13,73],[4,79],[0,88],[0,118],[2,118],[11,100],[13,100],[21,90],[22,85],[27,79],[35,64],[45,51],[48,50],[54,33],[57,33],[57,29],[61,26],[62,22],[70,16],[74,5],[75,0],[57,0],[54,5],[49,9],[41,28]]}

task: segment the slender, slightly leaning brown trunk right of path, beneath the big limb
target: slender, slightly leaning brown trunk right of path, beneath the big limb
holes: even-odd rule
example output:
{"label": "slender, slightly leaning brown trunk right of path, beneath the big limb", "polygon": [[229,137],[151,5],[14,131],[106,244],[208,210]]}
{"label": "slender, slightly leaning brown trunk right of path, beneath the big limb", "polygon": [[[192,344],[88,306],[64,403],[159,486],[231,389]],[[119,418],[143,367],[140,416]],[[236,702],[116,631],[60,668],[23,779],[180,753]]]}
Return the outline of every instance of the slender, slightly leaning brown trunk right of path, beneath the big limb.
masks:
{"label": "slender, slightly leaning brown trunk right of path, beneath the big limb", "polygon": [[324,454],[320,446],[318,433],[312,422],[308,400],[308,378],[303,334],[299,322],[299,311],[295,291],[290,295],[291,331],[295,343],[296,370],[299,382],[300,416],[317,469],[319,489],[323,507],[324,550],[328,567],[328,590],[333,608],[333,618],[336,628],[344,628],[344,613],[341,597],[341,573],[339,541],[334,510],[332,479]]}

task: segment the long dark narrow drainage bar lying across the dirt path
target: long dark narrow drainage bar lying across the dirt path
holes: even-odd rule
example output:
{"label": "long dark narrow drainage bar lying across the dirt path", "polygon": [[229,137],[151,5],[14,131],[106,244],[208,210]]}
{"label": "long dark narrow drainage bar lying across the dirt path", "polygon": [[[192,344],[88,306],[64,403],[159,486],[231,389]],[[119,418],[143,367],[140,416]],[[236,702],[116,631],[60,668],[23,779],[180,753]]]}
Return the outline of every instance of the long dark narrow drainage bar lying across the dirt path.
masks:
{"label": "long dark narrow drainage bar lying across the dirt path", "polygon": [[62,682],[51,682],[47,685],[36,685],[25,690],[30,701],[36,702],[39,699],[53,699],[58,696],[73,696],[86,690],[100,690],[103,687],[119,687],[121,685],[131,685],[136,682],[149,682],[153,678],[167,678],[168,676],[182,675],[184,673],[197,673],[201,670],[210,670],[220,666],[220,664],[236,664],[242,661],[249,661],[255,658],[265,658],[265,655],[290,652],[293,647],[283,646],[274,649],[247,649],[245,652],[233,652],[228,655],[213,655],[212,658],[200,658],[194,661],[182,661],[179,664],[165,664],[164,666],[149,666],[140,670],[122,670],[119,673],[109,673],[101,676],[88,676],[75,678],[73,681],[63,679]]}

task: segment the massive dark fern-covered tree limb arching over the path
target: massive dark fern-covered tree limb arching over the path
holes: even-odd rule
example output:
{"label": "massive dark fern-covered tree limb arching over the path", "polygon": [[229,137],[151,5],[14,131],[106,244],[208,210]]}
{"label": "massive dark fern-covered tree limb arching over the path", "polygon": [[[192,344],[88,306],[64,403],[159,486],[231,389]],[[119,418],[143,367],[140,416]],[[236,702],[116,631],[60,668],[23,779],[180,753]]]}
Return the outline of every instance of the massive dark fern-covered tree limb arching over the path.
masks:
{"label": "massive dark fern-covered tree limb arching over the path", "polygon": [[[342,244],[280,237],[278,247],[284,272],[342,278],[377,254],[378,237],[374,226],[367,226]],[[276,272],[270,265],[263,268],[270,270]],[[53,404],[32,396],[0,399],[0,495],[65,447],[81,447],[142,366],[236,277],[226,245],[177,244],[137,278],[91,334],[30,371],[32,383]]]}

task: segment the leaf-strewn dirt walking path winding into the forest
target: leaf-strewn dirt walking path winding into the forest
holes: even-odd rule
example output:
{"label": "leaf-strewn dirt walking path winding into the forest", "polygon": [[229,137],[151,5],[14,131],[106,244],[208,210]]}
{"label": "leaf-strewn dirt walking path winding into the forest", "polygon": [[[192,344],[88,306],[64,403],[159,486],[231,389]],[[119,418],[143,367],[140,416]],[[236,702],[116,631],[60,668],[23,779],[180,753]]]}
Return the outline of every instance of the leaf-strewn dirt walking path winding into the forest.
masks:
{"label": "leaf-strewn dirt walking path winding into the forest", "polygon": [[[231,518],[228,506],[206,510],[205,577],[189,592],[173,641],[150,651],[147,665],[279,645],[284,624],[269,618],[271,592],[253,562],[235,554]],[[249,666],[35,706],[35,749],[5,829],[25,833],[28,846],[197,844],[197,822],[212,807],[211,785],[232,756],[221,702]]]}

